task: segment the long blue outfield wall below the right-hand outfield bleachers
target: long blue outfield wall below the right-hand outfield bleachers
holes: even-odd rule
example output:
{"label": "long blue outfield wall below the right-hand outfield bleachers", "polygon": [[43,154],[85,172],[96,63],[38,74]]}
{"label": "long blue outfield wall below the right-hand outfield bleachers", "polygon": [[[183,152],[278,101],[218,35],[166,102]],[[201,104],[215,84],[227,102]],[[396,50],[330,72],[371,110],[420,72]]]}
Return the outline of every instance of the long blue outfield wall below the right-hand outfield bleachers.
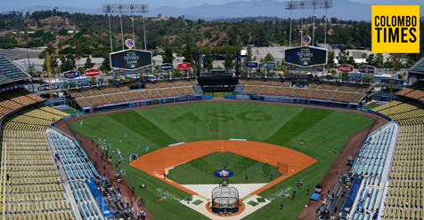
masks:
{"label": "long blue outfield wall below the right-hand outfield bleachers", "polygon": [[344,103],[344,102],[335,102],[321,99],[308,99],[308,98],[291,98],[291,97],[277,97],[277,96],[263,96],[263,95],[232,95],[225,94],[225,98],[229,99],[245,99],[245,100],[262,100],[269,102],[285,102],[285,103],[295,103],[295,104],[305,104],[305,105],[314,105],[314,106],[331,106],[331,107],[341,107],[347,109],[358,109],[360,105],[358,103]]}

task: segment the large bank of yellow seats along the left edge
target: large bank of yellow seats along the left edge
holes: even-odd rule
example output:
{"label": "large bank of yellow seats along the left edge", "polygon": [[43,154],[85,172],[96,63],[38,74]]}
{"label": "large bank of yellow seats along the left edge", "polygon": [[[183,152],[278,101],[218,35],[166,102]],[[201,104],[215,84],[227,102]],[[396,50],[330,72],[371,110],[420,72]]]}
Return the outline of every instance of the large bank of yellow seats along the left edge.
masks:
{"label": "large bank of yellow seats along the left edge", "polygon": [[57,184],[60,176],[45,138],[51,114],[32,108],[6,121],[2,130],[3,215],[9,219],[74,218],[64,187]]}

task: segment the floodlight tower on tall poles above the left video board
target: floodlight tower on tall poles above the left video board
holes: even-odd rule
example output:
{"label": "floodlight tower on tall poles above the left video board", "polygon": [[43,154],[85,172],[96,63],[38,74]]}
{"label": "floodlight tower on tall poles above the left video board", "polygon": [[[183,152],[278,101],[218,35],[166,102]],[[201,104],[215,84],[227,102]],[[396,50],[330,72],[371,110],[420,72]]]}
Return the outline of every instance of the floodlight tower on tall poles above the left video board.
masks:
{"label": "floodlight tower on tall poles above the left video board", "polygon": [[[146,28],[144,27],[144,13],[149,12],[148,4],[102,4],[102,12],[110,13],[119,12],[120,22],[121,22],[121,36],[122,36],[122,50],[124,50],[124,31],[122,28],[122,13],[131,13],[131,20],[133,20],[133,38],[135,38],[134,33],[134,19],[133,13],[143,13],[143,31],[144,31],[144,50],[146,49]],[[109,29],[110,28],[110,18],[109,18]],[[135,39],[133,39],[135,41]],[[110,31],[110,51],[112,50],[112,34]]]}

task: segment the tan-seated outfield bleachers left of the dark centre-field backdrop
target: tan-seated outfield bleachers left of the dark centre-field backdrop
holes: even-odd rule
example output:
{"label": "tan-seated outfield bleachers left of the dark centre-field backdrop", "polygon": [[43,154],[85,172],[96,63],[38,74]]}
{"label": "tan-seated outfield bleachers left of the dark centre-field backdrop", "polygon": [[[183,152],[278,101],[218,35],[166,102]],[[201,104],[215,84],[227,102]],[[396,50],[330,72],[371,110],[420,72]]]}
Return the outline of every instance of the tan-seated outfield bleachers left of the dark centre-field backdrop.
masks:
{"label": "tan-seated outfield bleachers left of the dark centre-field backdrop", "polygon": [[[151,98],[168,98],[196,94],[192,86],[196,80],[175,80],[143,83],[145,89],[130,90],[129,85],[113,85],[86,90],[69,90],[81,108],[89,106],[113,105]],[[0,109],[1,110],[1,109]],[[0,113],[1,114],[1,113]]]}

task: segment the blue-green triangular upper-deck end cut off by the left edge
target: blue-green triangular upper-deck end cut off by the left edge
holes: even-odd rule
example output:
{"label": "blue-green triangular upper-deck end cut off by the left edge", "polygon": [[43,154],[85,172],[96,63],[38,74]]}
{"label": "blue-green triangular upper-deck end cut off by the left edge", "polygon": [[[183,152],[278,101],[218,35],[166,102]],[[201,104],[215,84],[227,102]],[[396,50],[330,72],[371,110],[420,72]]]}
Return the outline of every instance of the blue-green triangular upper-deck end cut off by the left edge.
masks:
{"label": "blue-green triangular upper-deck end cut off by the left edge", "polygon": [[0,84],[30,79],[31,76],[0,54]]}

